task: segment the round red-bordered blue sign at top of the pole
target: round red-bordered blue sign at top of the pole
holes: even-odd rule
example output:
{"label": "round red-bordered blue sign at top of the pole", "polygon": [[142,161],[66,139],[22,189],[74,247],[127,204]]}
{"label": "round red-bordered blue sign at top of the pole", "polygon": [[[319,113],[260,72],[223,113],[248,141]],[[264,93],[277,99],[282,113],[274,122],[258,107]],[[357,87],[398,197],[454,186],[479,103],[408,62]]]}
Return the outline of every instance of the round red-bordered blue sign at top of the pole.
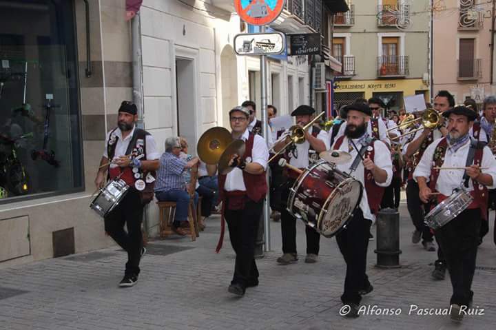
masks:
{"label": "round red-bordered blue sign at top of the pole", "polygon": [[240,19],[253,25],[267,25],[275,21],[285,0],[234,0],[234,8]]}

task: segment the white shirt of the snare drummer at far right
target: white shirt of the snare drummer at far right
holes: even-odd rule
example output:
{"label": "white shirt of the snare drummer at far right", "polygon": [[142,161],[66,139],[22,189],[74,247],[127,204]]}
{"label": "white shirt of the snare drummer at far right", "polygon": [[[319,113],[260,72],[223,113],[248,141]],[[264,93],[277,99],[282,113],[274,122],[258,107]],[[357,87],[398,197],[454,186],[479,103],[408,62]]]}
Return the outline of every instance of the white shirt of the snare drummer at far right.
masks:
{"label": "white shirt of the snare drummer at far right", "polygon": [[[440,143],[442,138],[437,139],[431,145],[429,145],[424,152],[424,155],[420,159],[415,171],[413,172],[413,178],[417,181],[417,177],[423,176],[428,182],[431,176],[431,167],[434,162],[434,152],[437,145]],[[446,155],[444,156],[444,162],[442,167],[465,167],[466,159],[468,156],[468,149],[470,149],[470,140],[467,141],[462,147],[456,152],[451,149],[446,149]],[[496,188],[496,159],[493,153],[490,151],[489,147],[484,147],[482,154],[481,167],[488,167],[488,169],[482,169],[482,173],[489,174],[493,177],[493,185],[488,186],[488,189]],[[440,170],[440,175],[437,178],[437,183],[435,189],[443,194],[444,196],[450,196],[453,189],[462,185],[464,169],[442,169]],[[473,190],[472,179],[468,181],[468,191]]]}

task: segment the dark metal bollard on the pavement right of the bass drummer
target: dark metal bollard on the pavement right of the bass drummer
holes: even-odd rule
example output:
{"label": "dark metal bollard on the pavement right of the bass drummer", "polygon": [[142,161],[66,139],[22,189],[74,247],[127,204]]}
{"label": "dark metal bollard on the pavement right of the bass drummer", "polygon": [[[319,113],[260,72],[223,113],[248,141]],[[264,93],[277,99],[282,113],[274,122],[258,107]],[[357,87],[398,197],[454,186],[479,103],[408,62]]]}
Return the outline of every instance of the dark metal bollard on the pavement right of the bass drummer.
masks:
{"label": "dark metal bollard on the pavement right of the bass drummer", "polygon": [[400,268],[400,213],[395,209],[381,209],[378,212],[376,239],[378,256],[375,267]]}

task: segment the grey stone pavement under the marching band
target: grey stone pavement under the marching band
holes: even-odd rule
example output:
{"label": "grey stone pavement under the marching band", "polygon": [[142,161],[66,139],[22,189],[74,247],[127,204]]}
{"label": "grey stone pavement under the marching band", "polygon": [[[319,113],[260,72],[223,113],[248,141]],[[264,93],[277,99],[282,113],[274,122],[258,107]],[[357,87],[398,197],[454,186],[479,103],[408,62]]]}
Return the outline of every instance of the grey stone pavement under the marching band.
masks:
{"label": "grey stone pavement under the marching band", "polygon": [[[242,298],[227,292],[234,269],[228,238],[214,253],[219,218],[209,218],[196,242],[172,236],[149,243],[135,287],[119,289],[125,254],[116,247],[0,269],[0,329],[490,329],[496,323],[496,249],[490,235],[479,248],[474,307],[461,325],[448,316],[411,308],[448,307],[451,284],[431,280],[436,254],[411,243],[413,225],[402,205],[400,269],[378,269],[369,245],[374,291],[362,300],[372,315],[339,316],[344,262],[333,238],[321,238],[316,264],[305,264],[304,227],[298,223],[300,261],[276,265],[280,224],[271,223],[273,251],[258,260],[260,285]],[[490,218],[494,218],[493,212]],[[373,227],[375,232],[375,227]],[[375,307],[374,307],[375,306]],[[377,315],[395,309],[399,315]]]}

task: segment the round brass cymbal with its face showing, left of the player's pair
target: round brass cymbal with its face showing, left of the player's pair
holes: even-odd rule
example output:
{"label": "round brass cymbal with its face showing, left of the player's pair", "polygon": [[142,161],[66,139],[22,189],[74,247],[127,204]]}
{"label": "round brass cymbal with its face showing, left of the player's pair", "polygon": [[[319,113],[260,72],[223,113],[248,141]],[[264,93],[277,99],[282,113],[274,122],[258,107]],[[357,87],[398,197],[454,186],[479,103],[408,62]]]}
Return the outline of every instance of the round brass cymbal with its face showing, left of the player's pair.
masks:
{"label": "round brass cymbal with its face showing, left of the player's pair", "polygon": [[211,127],[200,136],[196,152],[203,163],[216,165],[232,140],[231,133],[224,127]]}

